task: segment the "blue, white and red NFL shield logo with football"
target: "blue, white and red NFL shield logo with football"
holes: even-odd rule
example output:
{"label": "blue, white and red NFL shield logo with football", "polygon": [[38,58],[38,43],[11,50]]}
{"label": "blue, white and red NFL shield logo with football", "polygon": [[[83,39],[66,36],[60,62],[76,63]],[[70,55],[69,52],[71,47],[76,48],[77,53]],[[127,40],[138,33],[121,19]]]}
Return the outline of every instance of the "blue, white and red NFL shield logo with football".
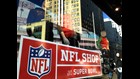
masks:
{"label": "blue, white and red NFL shield logo with football", "polygon": [[28,73],[41,78],[47,75],[51,69],[51,49],[46,49],[42,45],[29,48]]}

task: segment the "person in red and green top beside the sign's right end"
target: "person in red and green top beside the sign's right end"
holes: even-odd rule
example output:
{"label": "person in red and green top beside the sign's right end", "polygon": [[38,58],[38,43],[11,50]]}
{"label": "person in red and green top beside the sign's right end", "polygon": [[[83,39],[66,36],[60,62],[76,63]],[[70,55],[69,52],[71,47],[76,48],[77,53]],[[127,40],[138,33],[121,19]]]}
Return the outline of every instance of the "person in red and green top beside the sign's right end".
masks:
{"label": "person in red and green top beside the sign's right end", "polygon": [[109,41],[106,37],[106,31],[101,31],[101,36],[97,40],[97,47],[101,50],[103,63],[102,63],[102,72],[104,75],[109,74]]}

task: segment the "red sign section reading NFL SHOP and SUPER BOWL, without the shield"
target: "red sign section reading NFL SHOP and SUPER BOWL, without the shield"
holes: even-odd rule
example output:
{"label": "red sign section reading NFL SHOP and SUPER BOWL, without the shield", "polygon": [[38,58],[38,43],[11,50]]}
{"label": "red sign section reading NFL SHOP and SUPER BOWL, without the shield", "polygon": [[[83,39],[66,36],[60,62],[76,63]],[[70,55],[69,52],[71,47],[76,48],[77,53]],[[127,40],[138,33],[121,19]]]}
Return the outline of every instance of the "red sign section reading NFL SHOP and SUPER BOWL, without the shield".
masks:
{"label": "red sign section reading NFL SHOP and SUPER BOWL, without the shield", "polygon": [[58,79],[100,76],[101,62],[97,52],[58,45]]}

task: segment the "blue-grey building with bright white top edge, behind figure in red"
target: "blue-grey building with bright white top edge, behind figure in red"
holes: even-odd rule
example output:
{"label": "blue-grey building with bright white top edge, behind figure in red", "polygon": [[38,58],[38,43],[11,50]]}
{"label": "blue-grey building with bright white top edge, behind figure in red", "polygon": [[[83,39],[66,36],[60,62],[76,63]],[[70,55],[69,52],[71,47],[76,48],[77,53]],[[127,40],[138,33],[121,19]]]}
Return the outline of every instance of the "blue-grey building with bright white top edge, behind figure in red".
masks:
{"label": "blue-grey building with bright white top edge, behind figure in red", "polygon": [[115,56],[116,53],[122,54],[122,31],[121,26],[116,24],[112,19],[104,19],[104,26],[107,38],[110,43],[110,53]]}

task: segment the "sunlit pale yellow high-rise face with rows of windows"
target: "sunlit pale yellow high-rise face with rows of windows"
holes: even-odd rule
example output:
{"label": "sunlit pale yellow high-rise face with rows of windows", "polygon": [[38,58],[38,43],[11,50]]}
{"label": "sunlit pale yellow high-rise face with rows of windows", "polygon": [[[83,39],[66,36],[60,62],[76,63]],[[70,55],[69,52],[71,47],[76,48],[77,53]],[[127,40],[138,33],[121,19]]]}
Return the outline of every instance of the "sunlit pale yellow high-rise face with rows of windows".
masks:
{"label": "sunlit pale yellow high-rise face with rows of windows", "polygon": [[47,20],[82,33],[80,0],[46,0]]}

